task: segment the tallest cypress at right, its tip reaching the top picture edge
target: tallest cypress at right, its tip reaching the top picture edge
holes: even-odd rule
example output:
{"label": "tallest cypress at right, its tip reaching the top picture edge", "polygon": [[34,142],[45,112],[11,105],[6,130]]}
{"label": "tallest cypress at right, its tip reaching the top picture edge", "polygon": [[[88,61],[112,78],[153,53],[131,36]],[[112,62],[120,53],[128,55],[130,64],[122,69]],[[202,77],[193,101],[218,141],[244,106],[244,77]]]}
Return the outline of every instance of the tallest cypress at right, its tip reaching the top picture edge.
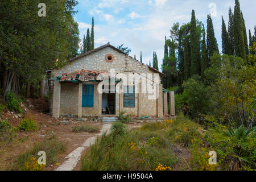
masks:
{"label": "tallest cypress at right, its tip reaching the top picture edge", "polygon": [[237,57],[246,60],[245,38],[243,36],[243,20],[240,10],[240,3],[236,0],[234,7],[234,50]]}

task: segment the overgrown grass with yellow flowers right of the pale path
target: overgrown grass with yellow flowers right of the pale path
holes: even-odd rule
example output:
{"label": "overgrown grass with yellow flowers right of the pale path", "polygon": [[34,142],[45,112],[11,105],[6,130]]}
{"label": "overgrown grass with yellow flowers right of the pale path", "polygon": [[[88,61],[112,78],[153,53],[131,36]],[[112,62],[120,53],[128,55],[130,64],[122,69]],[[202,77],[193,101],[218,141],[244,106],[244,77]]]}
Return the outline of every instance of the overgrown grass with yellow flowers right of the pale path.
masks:
{"label": "overgrown grass with yellow flowers right of the pale path", "polygon": [[[149,125],[149,124],[148,124]],[[164,129],[165,123],[157,123]],[[82,157],[82,170],[154,170],[159,163],[170,168],[179,158],[172,152],[172,143],[159,130],[146,127],[127,131],[121,122],[112,126],[112,133],[96,140],[90,152]],[[151,142],[154,139],[155,142]]]}

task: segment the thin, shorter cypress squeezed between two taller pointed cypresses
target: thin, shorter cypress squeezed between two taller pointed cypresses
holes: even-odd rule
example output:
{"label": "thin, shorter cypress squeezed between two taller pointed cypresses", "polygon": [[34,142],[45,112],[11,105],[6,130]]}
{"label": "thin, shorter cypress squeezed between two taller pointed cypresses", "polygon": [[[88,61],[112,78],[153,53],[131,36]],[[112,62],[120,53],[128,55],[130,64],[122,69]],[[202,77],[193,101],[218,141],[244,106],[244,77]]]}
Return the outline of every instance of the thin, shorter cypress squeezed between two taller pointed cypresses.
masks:
{"label": "thin, shorter cypress squeezed between two taller pointed cypresses", "polygon": [[201,57],[201,77],[204,77],[204,71],[209,67],[209,59],[207,54],[207,45],[205,40],[205,28],[203,24],[203,42],[202,42],[202,57]]}

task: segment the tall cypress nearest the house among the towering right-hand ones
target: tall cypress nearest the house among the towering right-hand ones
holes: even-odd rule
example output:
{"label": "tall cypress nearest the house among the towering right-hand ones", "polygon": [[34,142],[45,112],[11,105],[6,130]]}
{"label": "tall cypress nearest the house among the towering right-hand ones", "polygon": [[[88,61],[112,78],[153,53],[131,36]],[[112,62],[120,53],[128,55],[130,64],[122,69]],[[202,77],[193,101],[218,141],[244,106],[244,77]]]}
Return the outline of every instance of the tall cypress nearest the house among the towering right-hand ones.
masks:
{"label": "tall cypress nearest the house among the towering right-hand ones", "polygon": [[199,34],[197,33],[197,28],[196,28],[195,11],[193,10],[192,17],[191,17],[191,68],[190,68],[191,76],[201,74],[200,59],[201,59],[200,40],[199,40]]}

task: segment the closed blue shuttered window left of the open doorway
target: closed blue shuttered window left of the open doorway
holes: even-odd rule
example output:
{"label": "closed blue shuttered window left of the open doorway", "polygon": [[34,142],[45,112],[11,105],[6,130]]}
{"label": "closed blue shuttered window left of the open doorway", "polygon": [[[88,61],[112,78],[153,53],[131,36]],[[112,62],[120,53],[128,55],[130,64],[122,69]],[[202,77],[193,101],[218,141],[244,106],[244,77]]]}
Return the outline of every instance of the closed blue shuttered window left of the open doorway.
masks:
{"label": "closed blue shuttered window left of the open doorway", "polygon": [[94,85],[82,85],[82,107],[93,107]]}

